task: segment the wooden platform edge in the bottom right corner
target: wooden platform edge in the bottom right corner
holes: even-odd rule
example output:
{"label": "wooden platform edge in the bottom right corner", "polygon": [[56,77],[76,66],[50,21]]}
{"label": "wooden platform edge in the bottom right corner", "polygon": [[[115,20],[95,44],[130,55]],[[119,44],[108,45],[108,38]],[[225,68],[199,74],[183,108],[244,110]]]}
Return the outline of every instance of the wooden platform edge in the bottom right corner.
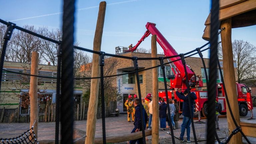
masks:
{"label": "wooden platform edge in the bottom right corner", "polygon": [[241,120],[240,126],[246,136],[256,137],[256,120]]}

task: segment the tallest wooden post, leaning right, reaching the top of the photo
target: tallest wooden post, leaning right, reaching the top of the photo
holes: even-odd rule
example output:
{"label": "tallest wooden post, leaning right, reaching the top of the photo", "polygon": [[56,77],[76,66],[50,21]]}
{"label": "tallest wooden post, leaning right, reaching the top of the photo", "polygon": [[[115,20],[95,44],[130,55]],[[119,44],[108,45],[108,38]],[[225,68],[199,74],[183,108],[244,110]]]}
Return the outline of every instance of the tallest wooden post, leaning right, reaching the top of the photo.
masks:
{"label": "tallest wooden post, leaning right, reaching the top of the photo", "polygon": [[[106,2],[100,2],[98,20],[95,30],[95,36],[93,41],[93,50],[101,50],[101,39],[103,33],[104,19],[106,11]],[[92,77],[100,76],[99,67],[99,55],[93,54],[92,61]],[[86,123],[86,138],[85,144],[94,144],[95,130],[96,130],[96,114],[98,106],[98,93],[99,93],[99,79],[91,80],[91,93],[89,100],[89,108],[87,113],[87,123]]]}

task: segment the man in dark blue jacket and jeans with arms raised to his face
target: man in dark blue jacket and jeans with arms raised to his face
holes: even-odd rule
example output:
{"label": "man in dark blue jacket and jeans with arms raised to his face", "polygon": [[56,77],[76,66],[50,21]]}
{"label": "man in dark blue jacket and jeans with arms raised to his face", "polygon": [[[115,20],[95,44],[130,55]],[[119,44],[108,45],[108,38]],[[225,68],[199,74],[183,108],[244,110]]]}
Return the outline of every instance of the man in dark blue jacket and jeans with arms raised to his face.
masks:
{"label": "man in dark blue jacket and jeans with arms raised to his face", "polygon": [[[183,136],[185,134],[185,129],[187,129],[187,142],[190,142],[191,116],[193,118],[194,100],[197,99],[197,97],[194,92],[190,93],[188,90],[185,90],[184,93],[182,93],[181,89],[178,89],[178,91],[176,91],[176,95],[183,100],[182,115],[184,117],[181,124],[180,140],[185,141]],[[189,107],[189,99],[191,107]]]}

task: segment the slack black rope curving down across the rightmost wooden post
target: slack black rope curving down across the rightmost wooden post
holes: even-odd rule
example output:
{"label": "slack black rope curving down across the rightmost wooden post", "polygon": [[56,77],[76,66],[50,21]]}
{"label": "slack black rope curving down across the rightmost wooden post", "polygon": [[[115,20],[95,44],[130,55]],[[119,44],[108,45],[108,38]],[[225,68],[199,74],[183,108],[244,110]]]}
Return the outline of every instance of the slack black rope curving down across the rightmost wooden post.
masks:
{"label": "slack black rope curving down across the rightmost wooden post", "polygon": [[[220,77],[221,77],[221,81],[222,81],[222,85],[223,85],[223,89],[224,89],[224,93],[225,93],[225,98],[226,98],[226,101],[227,101],[227,104],[228,104],[228,109],[229,109],[229,111],[230,111],[231,118],[232,118],[232,120],[233,120],[235,126],[236,126],[237,128],[240,128],[240,127],[238,126],[236,120],[235,120],[235,117],[234,117],[234,115],[233,115],[233,112],[232,112],[232,109],[231,109],[231,106],[230,106],[230,103],[229,103],[229,99],[228,99],[228,96],[227,96],[226,86],[225,86],[225,83],[224,83],[224,78],[223,78],[223,74],[222,74],[222,71],[221,71],[219,59],[217,59],[217,63],[218,63],[218,66],[219,66]],[[251,142],[250,142],[250,141],[248,140],[248,138],[245,136],[245,134],[243,133],[243,131],[241,130],[240,132],[241,132],[242,136],[245,138],[245,140],[246,140],[249,144],[251,144]]]}

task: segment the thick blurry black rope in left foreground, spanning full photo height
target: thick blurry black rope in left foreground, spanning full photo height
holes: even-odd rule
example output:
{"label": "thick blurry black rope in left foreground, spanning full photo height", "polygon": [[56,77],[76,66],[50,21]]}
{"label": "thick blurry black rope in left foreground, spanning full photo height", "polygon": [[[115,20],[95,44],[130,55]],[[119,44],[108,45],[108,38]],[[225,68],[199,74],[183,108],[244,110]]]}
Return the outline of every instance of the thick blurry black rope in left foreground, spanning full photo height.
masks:
{"label": "thick blurry black rope in left foreground, spanning full photo height", "polygon": [[75,1],[64,0],[62,26],[61,143],[73,144],[73,43]]}

